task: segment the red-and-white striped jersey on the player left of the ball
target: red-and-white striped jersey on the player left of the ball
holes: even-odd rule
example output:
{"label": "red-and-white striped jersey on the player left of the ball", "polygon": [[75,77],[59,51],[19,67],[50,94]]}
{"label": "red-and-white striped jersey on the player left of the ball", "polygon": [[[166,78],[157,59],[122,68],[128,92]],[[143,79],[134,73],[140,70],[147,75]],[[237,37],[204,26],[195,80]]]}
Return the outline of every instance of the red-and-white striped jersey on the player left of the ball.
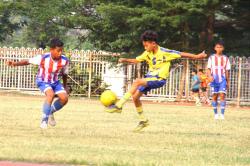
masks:
{"label": "red-and-white striped jersey on the player left of the ball", "polygon": [[59,74],[68,74],[69,70],[69,60],[65,55],[61,55],[59,60],[53,60],[51,53],[45,53],[30,58],[29,63],[39,65],[36,80],[47,83],[58,81]]}

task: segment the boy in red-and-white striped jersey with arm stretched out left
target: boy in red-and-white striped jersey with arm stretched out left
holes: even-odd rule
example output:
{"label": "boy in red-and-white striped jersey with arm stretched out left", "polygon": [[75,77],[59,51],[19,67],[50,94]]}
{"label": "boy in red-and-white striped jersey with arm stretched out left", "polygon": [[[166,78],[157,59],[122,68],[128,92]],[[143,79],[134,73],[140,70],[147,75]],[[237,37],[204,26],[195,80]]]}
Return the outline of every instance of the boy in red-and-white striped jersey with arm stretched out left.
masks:
{"label": "boy in red-and-white striped jersey with arm stretched out left", "polygon": [[[56,125],[54,113],[60,110],[67,102],[67,73],[69,60],[63,52],[63,42],[54,38],[50,42],[50,52],[38,55],[29,60],[19,62],[8,61],[9,66],[25,66],[29,64],[38,65],[39,70],[36,76],[38,88],[45,93],[46,99],[43,104],[43,116],[40,127],[46,129],[48,122],[51,126]],[[59,74],[62,74],[63,85],[58,80]],[[55,96],[58,99],[54,101]]]}

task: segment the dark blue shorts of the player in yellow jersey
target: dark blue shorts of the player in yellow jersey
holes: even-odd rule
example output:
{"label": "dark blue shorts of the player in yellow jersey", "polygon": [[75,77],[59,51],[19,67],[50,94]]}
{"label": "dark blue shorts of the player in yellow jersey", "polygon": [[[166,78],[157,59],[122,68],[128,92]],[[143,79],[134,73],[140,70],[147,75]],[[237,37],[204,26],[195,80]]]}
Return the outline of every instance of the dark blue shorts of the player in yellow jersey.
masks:
{"label": "dark blue shorts of the player in yellow jersey", "polygon": [[166,80],[158,77],[146,77],[147,86],[140,86],[138,90],[142,93],[147,93],[151,89],[163,87],[166,84]]}

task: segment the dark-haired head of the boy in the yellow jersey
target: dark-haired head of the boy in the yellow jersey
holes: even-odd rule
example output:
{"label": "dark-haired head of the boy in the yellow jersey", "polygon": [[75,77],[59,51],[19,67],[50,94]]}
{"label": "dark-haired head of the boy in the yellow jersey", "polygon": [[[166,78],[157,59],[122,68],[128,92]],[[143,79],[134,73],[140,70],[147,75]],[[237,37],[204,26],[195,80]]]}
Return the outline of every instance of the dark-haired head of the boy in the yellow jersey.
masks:
{"label": "dark-haired head of the boy in the yellow jersey", "polygon": [[153,51],[157,48],[158,34],[154,31],[147,30],[141,35],[141,40],[146,51]]}

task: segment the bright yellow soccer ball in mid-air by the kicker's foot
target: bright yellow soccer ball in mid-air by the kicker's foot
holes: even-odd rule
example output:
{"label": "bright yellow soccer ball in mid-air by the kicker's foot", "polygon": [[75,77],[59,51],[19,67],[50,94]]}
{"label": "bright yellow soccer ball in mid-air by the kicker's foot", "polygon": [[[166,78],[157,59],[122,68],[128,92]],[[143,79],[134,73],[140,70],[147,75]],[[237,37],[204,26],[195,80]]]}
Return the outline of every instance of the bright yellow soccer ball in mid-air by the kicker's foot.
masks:
{"label": "bright yellow soccer ball in mid-air by the kicker's foot", "polygon": [[112,104],[115,104],[117,101],[117,96],[111,90],[106,90],[101,94],[100,101],[105,107],[108,107]]}

